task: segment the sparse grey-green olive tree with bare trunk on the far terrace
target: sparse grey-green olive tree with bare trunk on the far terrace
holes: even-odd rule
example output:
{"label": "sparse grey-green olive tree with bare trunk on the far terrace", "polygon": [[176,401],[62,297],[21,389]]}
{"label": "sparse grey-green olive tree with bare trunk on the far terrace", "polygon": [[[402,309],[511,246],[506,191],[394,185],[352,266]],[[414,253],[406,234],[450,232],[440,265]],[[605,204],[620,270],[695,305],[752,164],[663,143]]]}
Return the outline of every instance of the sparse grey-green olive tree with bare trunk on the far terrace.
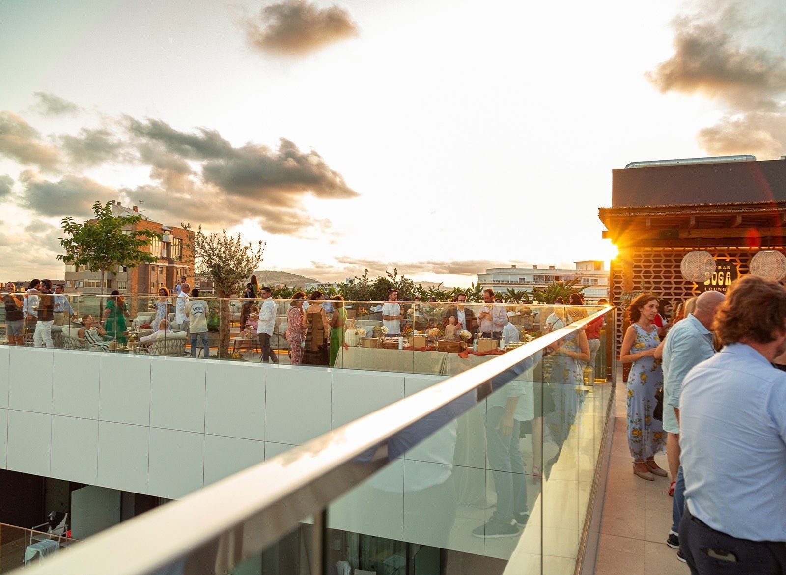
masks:
{"label": "sparse grey-green olive tree with bare trunk on the far terrace", "polygon": [[[182,227],[191,231],[189,224],[182,224]],[[251,242],[245,244],[241,234],[229,236],[226,229],[220,234],[211,232],[208,235],[202,232],[201,225],[192,237],[189,252],[193,257],[195,273],[210,277],[216,295],[225,298],[221,300],[219,309],[219,357],[226,357],[230,350],[230,303],[226,298],[237,296],[241,284],[259,268],[265,244],[262,240],[256,247]]]}

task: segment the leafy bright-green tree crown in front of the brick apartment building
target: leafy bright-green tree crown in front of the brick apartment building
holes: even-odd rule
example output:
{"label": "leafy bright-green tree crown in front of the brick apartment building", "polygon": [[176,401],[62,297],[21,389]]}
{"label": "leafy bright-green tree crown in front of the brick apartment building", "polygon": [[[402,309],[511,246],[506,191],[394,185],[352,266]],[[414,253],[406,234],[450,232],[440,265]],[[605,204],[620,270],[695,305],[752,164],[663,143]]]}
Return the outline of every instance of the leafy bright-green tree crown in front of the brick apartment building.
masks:
{"label": "leafy bright-green tree crown in front of the brick apartment building", "polygon": [[64,263],[101,272],[101,293],[106,286],[106,273],[117,275],[118,266],[134,268],[142,263],[157,262],[158,258],[143,248],[160,234],[150,229],[130,228],[141,222],[141,215],[113,216],[112,204],[93,204],[93,221],[78,224],[74,218],[63,218],[65,237],[60,244],[65,254],[57,256]]}

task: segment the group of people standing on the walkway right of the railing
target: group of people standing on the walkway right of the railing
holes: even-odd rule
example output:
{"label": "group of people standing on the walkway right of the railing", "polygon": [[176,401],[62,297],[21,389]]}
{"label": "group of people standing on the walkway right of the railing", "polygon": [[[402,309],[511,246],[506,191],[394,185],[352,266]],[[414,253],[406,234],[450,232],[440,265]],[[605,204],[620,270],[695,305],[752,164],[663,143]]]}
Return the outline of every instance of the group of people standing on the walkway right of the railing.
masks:
{"label": "group of people standing on the walkway right of the railing", "polygon": [[691,573],[786,573],[786,290],[746,276],[670,308],[627,309],[633,472],[670,477],[664,535]]}

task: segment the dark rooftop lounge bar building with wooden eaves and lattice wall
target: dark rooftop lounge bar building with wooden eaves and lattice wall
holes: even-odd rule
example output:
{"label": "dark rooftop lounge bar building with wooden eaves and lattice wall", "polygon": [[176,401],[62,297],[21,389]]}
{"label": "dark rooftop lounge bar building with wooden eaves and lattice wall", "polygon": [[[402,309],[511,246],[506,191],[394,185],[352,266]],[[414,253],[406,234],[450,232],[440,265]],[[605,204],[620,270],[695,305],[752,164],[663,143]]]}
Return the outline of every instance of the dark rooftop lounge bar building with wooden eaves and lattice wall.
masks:
{"label": "dark rooftop lounge bar building with wooden eaves and lattice wall", "polygon": [[[725,291],[749,273],[758,252],[786,247],[786,159],[706,158],[613,170],[612,207],[601,208],[599,217],[604,237],[619,250],[610,279],[615,305],[626,306],[641,291],[674,304],[708,289]],[[689,251],[714,259],[709,280],[683,277]]]}

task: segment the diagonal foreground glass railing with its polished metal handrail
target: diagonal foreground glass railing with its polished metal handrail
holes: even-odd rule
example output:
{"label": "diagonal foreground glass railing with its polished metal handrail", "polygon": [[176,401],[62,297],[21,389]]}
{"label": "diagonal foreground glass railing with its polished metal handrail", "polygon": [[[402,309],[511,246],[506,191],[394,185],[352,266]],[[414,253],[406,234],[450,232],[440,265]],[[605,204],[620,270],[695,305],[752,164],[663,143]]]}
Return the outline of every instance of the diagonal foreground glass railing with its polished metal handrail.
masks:
{"label": "diagonal foreground glass railing with its polished metal handrail", "polygon": [[[559,312],[557,312],[559,313]],[[574,573],[608,441],[614,309],[86,540],[48,572]],[[549,317],[552,314],[549,313]],[[34,570],[34,573],[44,573]]]}

